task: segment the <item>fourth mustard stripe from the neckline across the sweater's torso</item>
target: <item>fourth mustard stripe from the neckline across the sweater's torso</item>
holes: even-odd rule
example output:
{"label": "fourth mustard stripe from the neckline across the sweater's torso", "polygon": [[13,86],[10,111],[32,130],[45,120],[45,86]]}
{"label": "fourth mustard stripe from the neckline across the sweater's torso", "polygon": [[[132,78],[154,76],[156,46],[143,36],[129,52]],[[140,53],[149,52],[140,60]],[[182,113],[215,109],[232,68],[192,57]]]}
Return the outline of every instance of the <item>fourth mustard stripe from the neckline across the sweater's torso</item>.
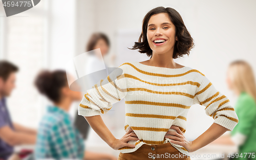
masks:
{"label": "fourth mustard stripe from the neckline across the sweater's torso", "polygon": [[125,104],[159,105],[159,106],[179,107],[179,108],[184,108],[184,109],[190,108],[190,106],[177,104],[177,103],[160,103],[160,102],[150,102],[150,101],[125,101]]}

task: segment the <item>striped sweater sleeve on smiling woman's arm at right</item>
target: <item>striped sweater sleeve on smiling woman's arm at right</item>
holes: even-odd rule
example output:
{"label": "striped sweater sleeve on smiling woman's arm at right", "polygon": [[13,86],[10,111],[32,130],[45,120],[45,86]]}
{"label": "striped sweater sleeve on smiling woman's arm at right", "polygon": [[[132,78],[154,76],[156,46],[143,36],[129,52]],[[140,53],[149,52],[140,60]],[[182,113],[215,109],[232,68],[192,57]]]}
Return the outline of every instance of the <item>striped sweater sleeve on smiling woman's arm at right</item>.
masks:
{"label": "striped sweater sleeve on smiling woman's arm at right", "polygon": [[200,74],[198,82],[200,83],[196,89],[194,104],[204,106],[206,115],[212,117],[214,123],[232,131],[238,124],[238,116],[229,99],[217,90],[205,75]]}

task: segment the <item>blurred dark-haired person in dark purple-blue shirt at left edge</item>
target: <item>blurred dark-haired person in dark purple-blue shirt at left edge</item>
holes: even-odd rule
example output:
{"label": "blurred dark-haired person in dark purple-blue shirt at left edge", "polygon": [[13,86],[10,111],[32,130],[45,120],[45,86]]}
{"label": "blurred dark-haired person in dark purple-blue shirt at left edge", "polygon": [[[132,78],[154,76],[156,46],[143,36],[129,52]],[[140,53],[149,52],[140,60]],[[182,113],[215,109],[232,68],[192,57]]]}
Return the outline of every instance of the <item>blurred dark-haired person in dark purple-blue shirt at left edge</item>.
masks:
{"label": "blurred dark-haired person in dark purple-blue shirt at left edge", "polygon": [[13,147],[35,144],[36,130],[13,123],[6,106],[6,97],[15,87],[18,67],[7,60],[0,61],[0,159],[8,159]]}

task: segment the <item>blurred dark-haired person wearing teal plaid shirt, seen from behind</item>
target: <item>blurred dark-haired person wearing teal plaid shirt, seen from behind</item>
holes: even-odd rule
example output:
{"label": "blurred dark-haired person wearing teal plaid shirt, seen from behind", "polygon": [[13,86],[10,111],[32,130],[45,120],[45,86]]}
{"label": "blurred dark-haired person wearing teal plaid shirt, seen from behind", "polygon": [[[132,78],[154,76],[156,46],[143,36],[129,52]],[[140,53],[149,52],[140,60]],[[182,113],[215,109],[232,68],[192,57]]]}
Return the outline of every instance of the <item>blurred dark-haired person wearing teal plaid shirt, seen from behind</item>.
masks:
{"label": "blurred dark-haired person wearing teal plaid shirt, seen from behind", "polygon": [[[66,71],[41,71],[35,79],[35,86],[53,103],[47,107],[39,123],[36,159],[117,159],[110,154],[84,152],[82,136],[68,113],[72,102],[81,100],[81,93],[69,88]],[[78,85],[74,87],[79,89]]]}

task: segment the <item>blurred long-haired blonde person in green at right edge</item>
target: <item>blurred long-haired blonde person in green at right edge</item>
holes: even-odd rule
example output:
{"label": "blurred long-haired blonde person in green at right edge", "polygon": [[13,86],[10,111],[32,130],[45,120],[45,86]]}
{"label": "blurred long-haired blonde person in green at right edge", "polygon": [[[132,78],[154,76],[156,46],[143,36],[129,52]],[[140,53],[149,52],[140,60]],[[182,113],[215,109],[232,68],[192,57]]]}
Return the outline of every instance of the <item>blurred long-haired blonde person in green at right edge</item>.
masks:
{"label": "blurred long-haired blonde person in green at right edge", "polygon": [[220,136],[211,144],[237,145],[238,154],[233,159],[255,159],[250,155],[256,155],[256,83],[252,67],[244,60],[231,62],[226,82],[237,96],[234,109],[239,123],[230,134]]}

